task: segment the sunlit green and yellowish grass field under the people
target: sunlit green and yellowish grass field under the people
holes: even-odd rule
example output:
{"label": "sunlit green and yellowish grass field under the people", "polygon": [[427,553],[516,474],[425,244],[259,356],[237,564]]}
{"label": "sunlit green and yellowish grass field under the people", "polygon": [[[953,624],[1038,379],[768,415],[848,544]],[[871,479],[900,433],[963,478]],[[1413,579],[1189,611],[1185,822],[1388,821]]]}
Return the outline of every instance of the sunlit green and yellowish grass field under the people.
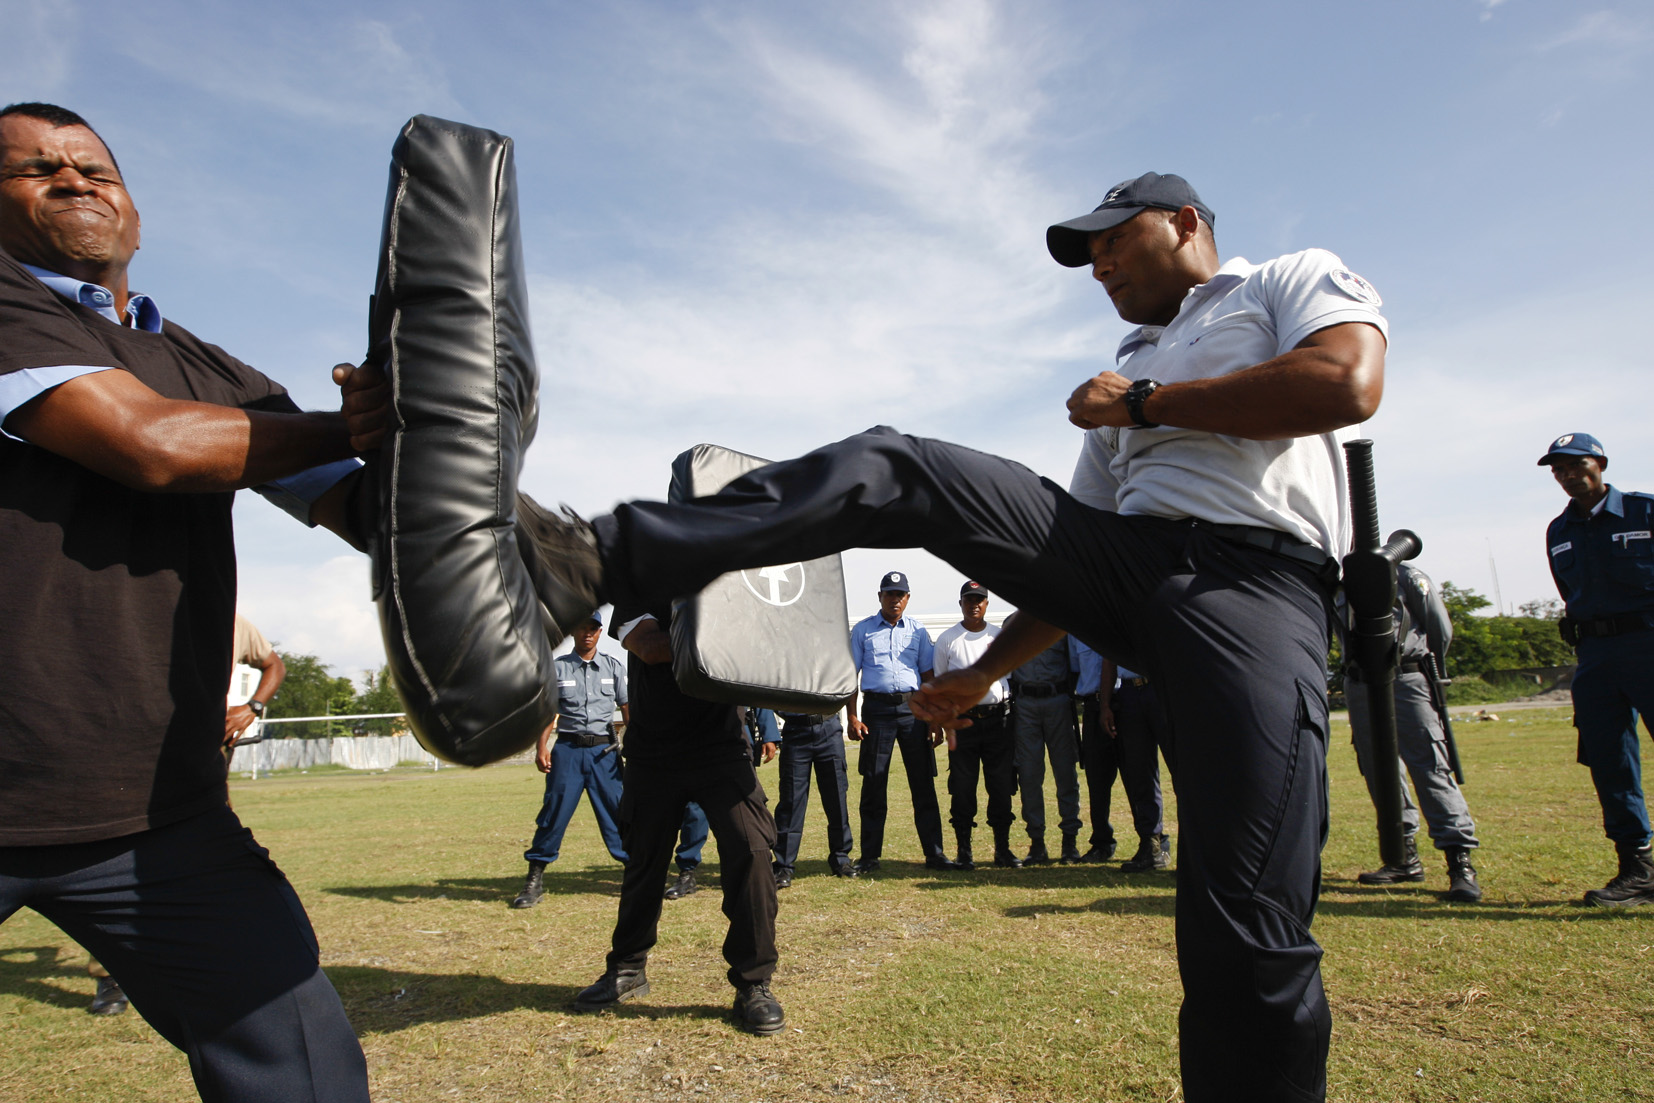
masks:
{"label": "sunlit green and yellowish grass field under the people", "polygon": [[[1480,905],[1437,900],[1434,853],[1424,885],[1355,885],[1374,865],[1373,815],[1348,726],[1333,728],[1315,924],[1330,1096],[1654,1100],[1654,908],[1576,903],[1611,876],[1613,850],[1566,711],[1465,723],[1460,746]],[[776,767],[761,776],[774,789]],[[602,971],[619,867],[582,810],[546,900],[506,908],[539,804],[533,767],[278,776],[233,799],[309,906],[380,1103],[1181,1098],[1171,875],[930,873],[901,789],[898,771],[885,870],[860,881],[827,876],[810,809],[781,895],[789,1030],[772,1039],[726,1019],[716,891],[665,906],[652,996],[566,1010]],[[84,1014],[84,964],[33,913],[0,926],[0,1100],[194,1098],[182,1055],[137,1015]]]}

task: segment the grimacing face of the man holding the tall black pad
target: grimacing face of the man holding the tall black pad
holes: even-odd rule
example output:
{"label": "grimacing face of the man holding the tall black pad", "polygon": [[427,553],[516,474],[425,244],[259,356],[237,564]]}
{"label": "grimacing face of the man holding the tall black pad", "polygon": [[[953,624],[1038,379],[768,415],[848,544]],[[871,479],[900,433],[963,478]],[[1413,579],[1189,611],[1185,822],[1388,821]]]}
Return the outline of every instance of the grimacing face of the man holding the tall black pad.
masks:
{"label": "grimacing face of the man holding the tall black pad", "polygon": [[83,126],[0,119],[0,246],[20,261],[108,286],[139,246],[114,157]]}

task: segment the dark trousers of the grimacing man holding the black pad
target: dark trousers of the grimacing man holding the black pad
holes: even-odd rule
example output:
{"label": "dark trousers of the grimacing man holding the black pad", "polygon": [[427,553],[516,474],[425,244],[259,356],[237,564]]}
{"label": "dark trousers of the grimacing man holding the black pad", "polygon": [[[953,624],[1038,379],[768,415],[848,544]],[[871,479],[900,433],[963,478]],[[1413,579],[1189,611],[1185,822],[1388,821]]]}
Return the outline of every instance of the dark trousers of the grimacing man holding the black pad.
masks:
{"label": "dark trousers of the grimacing man holding the black pad", "polygon": [[304,906],[228,807],[94,843],[0,847],[0,919],[18,908],[104,964],[189,1055],[202,1100],[367,1100]]}

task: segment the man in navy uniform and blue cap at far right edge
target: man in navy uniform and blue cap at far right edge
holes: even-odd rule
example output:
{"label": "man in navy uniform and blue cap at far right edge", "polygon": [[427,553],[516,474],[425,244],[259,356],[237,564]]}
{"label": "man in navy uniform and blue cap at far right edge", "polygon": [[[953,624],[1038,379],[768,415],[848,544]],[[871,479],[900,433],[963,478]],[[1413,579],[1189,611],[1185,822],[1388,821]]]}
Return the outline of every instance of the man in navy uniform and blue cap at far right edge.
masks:
{"label": "man in navy uniform and blue cap at far right edge", "polygon": [[1563,433],[1540,456],[1571,501],[1545,532],[1551,577],[1568,605],[1563,638],[1580,655],[1573,723],[1591,769],[1619,871],[1585,903],[1654,903],[1654,857],[1642,800],[1637,713],[1654,711],[1654,496],[1603,481],[1608,453],[1589,433]]}

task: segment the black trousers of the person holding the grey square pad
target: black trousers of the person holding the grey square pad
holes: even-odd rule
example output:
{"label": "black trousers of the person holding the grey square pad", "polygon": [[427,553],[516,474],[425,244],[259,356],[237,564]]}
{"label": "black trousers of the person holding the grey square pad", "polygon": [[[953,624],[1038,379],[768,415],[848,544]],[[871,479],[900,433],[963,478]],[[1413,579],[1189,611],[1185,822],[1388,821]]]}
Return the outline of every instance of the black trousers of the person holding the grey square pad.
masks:
{"label": "black trousers of the person holding the grey square pad", "polygon": [[767,981],[776,974],[776,878],[769,871],[776,820],[744,754],[711,762],[627,761],[620,795],[627,862],[609,967],[642,969],[648,961],[658,938],[660,885],[690,800],[701,805],[718,843],[729,984]]}

